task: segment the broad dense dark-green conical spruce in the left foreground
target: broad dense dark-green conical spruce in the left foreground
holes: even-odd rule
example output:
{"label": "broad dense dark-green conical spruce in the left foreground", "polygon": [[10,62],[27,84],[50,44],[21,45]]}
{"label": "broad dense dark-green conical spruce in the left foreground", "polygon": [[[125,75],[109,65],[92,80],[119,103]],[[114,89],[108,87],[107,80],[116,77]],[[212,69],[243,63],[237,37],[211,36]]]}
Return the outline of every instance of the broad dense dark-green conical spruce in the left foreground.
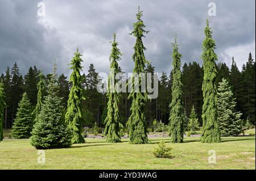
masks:
{"label": "broad dense dark-green conical spruce in the left foreground", "polygon": [[47,85],[38,121],[34,124],[31,145],[36,149],[67,148],[72,142],[71,130],[65,124],[61,98],[57,96],[56,65]]}

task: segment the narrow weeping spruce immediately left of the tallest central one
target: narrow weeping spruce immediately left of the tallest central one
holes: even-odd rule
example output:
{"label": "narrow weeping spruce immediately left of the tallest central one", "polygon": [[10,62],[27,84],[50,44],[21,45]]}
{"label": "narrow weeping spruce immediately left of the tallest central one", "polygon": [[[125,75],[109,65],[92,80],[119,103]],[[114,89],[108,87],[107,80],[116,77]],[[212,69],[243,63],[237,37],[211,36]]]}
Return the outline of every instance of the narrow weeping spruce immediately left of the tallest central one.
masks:
{"label": "narrow weeping spruce immediately left of the tallest central one", "polygon": [[118,43],[115,41],[115,33],[114,33],[114,41],[112,42],[112,51],[109,57],[110,60],[110,75],[108,78],[108,114],[106,119],[104,120],[105,131],[104,134],[106,136],[107,142],[120,142],[121,141],[121,132],[122,124],[120,123],[120,115],[118,110],[118,103],[120,98],[120,93],[117,92],[114,88],[117,80],[115,79],[115,75],[118,73],[118,62],[121,58],[122,53],[117,48]]}

